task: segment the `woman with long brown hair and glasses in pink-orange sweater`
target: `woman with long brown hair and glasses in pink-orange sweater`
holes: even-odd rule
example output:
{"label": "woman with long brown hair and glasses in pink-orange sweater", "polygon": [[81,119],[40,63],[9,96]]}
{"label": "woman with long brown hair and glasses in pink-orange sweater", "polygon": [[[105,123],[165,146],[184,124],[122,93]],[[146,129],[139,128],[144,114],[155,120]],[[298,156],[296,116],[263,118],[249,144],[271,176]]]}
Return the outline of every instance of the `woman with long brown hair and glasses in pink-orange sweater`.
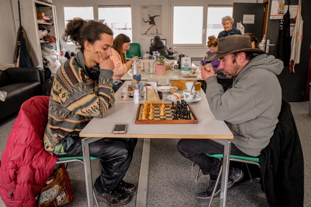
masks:
{"label": "woman with long brown hair and glasses in pink-orange sweater", "polygon": [[137,59],[138,56],[132,57],[131,60],[127,61],[125,58],[125,52],[130,48],[131,39],[125,34],[119,34],[114,38],[112,45],[112,56],[110,59],[114,61],[114,84],[112,89],[116,92],[123,84],[121,77],[128,72],[128,69],[134,63],[133,59]]}

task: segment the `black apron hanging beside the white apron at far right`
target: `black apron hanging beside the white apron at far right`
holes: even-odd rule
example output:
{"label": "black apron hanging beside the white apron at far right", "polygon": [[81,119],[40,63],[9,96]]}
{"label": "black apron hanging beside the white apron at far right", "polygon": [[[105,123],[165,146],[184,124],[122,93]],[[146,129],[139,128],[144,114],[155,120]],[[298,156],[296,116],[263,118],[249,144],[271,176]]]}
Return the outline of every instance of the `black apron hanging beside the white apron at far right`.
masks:
{"label": "black apron hanging beside the white apron at far right", "polygon": [[290,0],[288,0],[288,9],[280,23],[279,41],[277,43],[276,57],[283,61],[285,66],[290,66]]}

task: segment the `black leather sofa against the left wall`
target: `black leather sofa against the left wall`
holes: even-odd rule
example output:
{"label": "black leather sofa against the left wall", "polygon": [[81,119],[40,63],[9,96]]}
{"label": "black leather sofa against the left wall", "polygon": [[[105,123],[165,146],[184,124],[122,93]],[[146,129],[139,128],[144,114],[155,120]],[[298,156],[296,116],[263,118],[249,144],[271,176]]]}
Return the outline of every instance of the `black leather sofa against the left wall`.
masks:
{"label": "black leather sofa against the left wall", "polygon": [[43,68],[0,70],[0,91],[7,92],[5,101],[0,101],[0,119],[19,110],[29,98],[42,95],[43,83]]}

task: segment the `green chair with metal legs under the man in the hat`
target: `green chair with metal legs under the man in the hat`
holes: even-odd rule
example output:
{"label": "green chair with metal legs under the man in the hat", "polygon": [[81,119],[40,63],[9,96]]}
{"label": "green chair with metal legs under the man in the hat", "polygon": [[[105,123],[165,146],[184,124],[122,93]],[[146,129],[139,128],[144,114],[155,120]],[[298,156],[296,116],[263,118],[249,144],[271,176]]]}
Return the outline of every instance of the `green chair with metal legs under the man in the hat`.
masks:
{"label": "green chair with metal legs under the man in the hat", "polygon": [[[209,156],[209,157],[218,158],[220,161],[222,161],[222,158],[224,157],[223,154],[209,154],[209,153],[205,153],[205,154],[207,156]],[[250,171],[248,169],[247,163],[249,163],[249,164],[256,164],[260,168],[259,158],[258,157],[246,157],[246,156],[239,156],[239,155],[230,155],[230,161],[237,161],[237,162],[244,162],[244,163],[246,163],[246,167],[247,167],[247,170],[248,170],[248,173],[249,173],[249,177],[251,178],[251,180],[253,180],[253,178],[252,178],[252,175],[251,175],[251,173],[250,173]],[[194,165],[194,162],[193,162],[191,167],[193,167],[193,165]],[[197,180],[199,172],[200,172],[200,167],[197,170],[197,176],[196,176],[195,180]],[[220,171],[218,173],[215,186],[217,186],[217,184],[218,184],[218,182],[220,180],[221,172],[222,172],[222,165],[220,167]],[[211,195],[211,199],[210,199],[209,204],[208,204],[209,207],[211,206],[211,203],[213,201],[213,197],[215,195],[215,191],[216,191],[216,188],[214,188],[213,193]]]}

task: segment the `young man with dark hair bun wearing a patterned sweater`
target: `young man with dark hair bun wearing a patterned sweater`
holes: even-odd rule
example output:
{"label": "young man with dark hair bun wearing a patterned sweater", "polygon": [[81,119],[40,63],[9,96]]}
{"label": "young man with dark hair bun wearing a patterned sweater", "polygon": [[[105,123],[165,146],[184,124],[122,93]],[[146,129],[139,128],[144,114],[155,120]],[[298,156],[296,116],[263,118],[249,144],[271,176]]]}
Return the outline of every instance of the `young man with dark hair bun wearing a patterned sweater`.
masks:
{"label": "young man with dark hair bun wearing a patterned sweater", "polygon": [[[44,149],[58,157],[82,156],[79,132],[93,117],[105,118],[114,104],[113,32],[99,21],[69,20],[62,36],[77,46],[76,56],[57,70],[49,101]],[[104,126],[103,126],[104,127]],[[103,165],[95,194],[110,205],[128,203],[136,187],[122,180],[132,160],[137,138],[103,138],[89,145],[90,155]],[[118,164],[116,164],[118,163]]]}

